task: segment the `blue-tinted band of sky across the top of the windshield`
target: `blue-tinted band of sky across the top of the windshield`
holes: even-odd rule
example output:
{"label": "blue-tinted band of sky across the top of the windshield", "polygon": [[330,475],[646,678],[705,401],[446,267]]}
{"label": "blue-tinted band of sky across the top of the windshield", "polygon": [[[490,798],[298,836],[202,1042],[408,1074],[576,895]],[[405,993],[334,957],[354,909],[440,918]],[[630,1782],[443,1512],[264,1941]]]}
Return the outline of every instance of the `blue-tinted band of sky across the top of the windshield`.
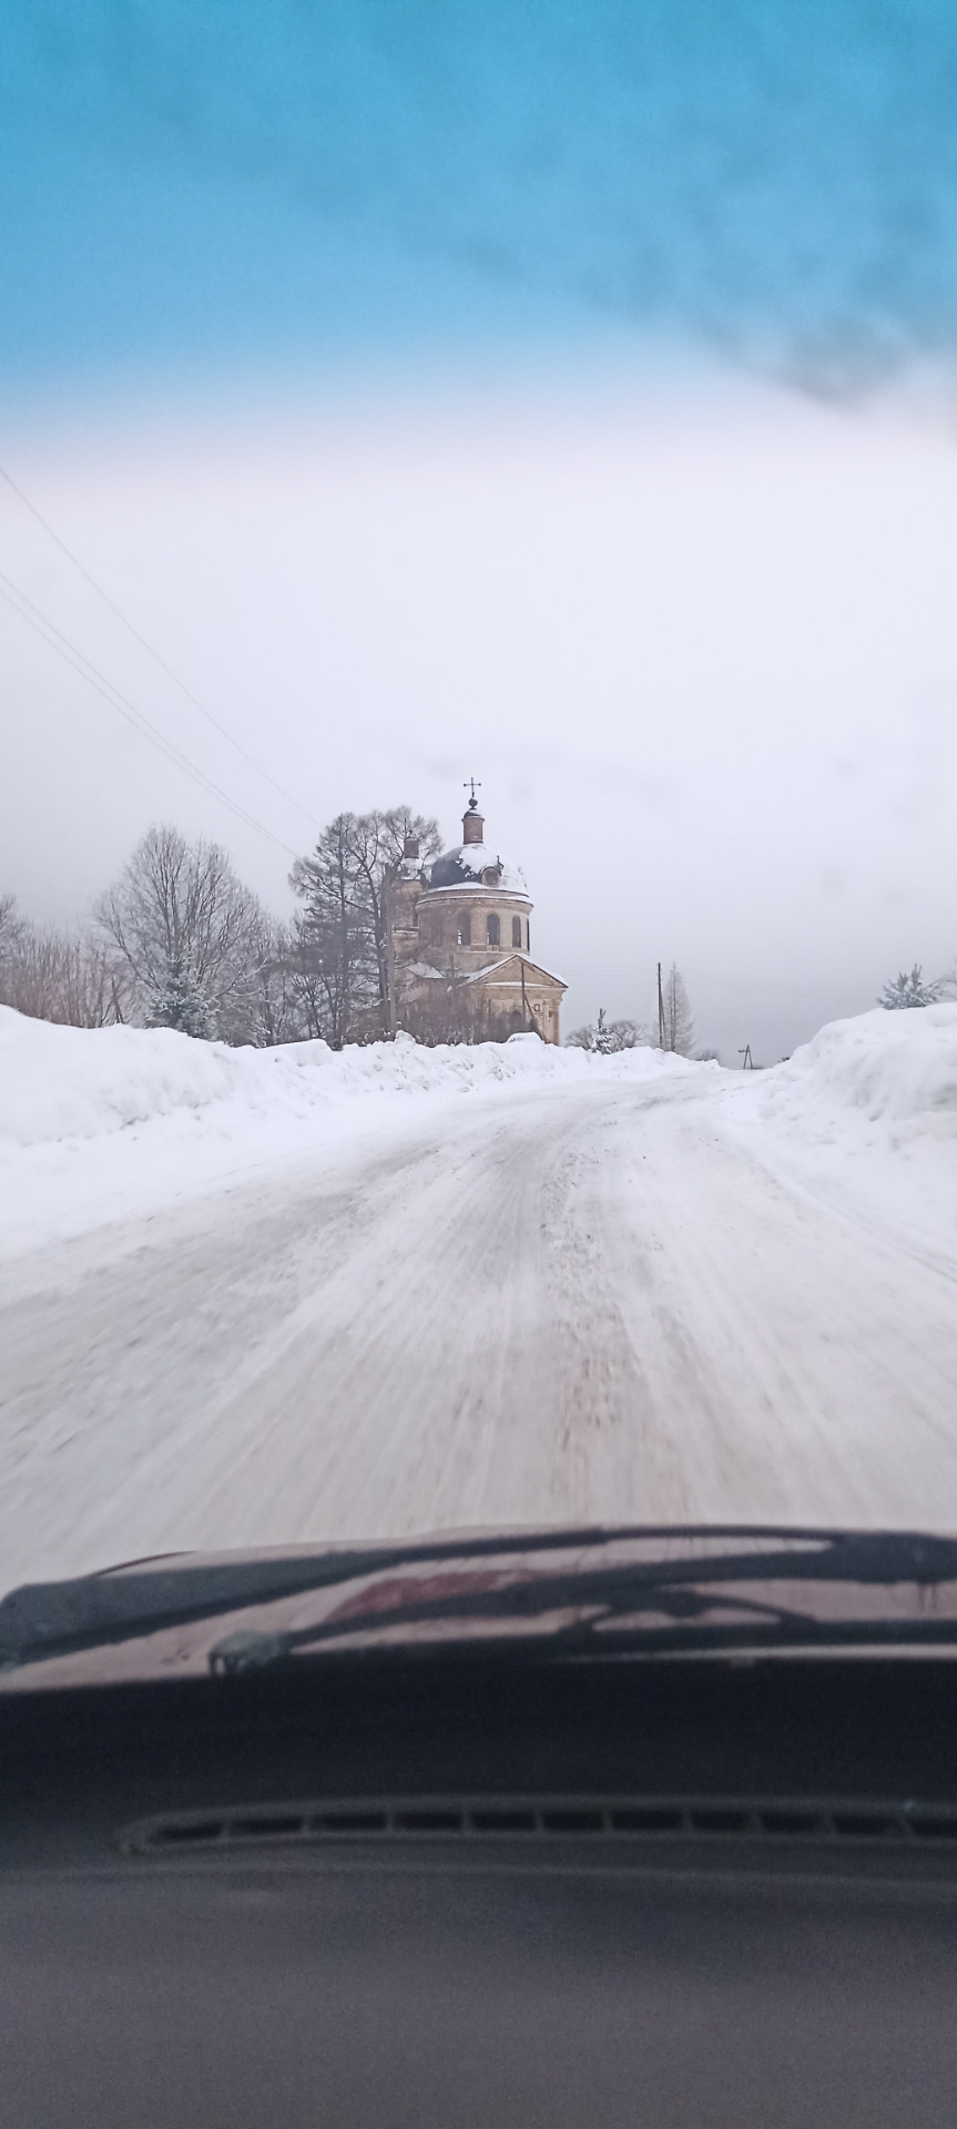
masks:
{"label": "blue-tinted band of sky across the top of the windshield", "polygon": [[957,324],[953,0],[6,0],[6,392]]}

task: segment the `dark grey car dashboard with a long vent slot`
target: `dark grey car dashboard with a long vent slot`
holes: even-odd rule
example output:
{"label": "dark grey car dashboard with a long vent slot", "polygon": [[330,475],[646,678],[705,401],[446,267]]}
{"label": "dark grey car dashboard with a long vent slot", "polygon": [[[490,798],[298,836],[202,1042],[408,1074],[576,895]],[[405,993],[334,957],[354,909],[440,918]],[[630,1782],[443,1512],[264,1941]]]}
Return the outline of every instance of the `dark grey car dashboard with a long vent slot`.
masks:
{"label": "dark grey car dashboard with a long vent slot", "polygon": [[948,1661],[364,1652],[0,1714],[2,2123],[953,2125]]}

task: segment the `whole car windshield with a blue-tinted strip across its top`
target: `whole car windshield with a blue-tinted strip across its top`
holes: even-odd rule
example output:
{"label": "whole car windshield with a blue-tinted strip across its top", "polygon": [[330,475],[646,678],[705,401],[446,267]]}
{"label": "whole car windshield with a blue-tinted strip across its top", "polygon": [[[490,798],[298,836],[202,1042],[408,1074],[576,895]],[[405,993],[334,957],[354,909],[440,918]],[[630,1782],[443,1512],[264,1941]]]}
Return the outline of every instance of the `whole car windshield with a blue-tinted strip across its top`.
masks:
{"label": "whole car windshield with a blue-tinted strip across its top", "polygon": [[951,1635],[955,83],[6,0],[0,1663]]}

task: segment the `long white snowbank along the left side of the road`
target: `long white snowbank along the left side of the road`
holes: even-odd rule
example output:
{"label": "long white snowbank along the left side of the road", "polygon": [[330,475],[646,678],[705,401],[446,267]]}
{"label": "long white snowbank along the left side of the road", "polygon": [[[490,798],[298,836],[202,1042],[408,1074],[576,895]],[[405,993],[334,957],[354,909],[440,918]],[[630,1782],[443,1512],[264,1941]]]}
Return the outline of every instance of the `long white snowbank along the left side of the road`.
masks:
{"label": "long white snowbank along the left side of the road", "polygon": [[[590,1058],[537,1037],[420,1050],[228,1050],[171,1028],[58,1028],[0,1007],[0,1254],[121,1233],[164,1207],[292,1167],[328,1177],[358,1141],[416,1139],[463,1096],[550,1099],[593,1075],[705,1067],[652,1052]],[[431,1128],[431,1124],[426,1126]]]}

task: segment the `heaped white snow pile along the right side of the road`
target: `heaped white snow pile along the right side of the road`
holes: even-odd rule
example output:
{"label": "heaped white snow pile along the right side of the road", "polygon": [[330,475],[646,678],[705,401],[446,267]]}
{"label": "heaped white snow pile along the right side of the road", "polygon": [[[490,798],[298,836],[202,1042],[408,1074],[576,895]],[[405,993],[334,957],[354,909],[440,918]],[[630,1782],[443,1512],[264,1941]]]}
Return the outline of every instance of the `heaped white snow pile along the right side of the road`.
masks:
{"label": "heaped white snow pile along the right side of the road", "polygon": [[855,1126],[891,1148],[957,1139],[957,1005],[833,1020],[759,1082],[759,1113],[831,1141]]}

